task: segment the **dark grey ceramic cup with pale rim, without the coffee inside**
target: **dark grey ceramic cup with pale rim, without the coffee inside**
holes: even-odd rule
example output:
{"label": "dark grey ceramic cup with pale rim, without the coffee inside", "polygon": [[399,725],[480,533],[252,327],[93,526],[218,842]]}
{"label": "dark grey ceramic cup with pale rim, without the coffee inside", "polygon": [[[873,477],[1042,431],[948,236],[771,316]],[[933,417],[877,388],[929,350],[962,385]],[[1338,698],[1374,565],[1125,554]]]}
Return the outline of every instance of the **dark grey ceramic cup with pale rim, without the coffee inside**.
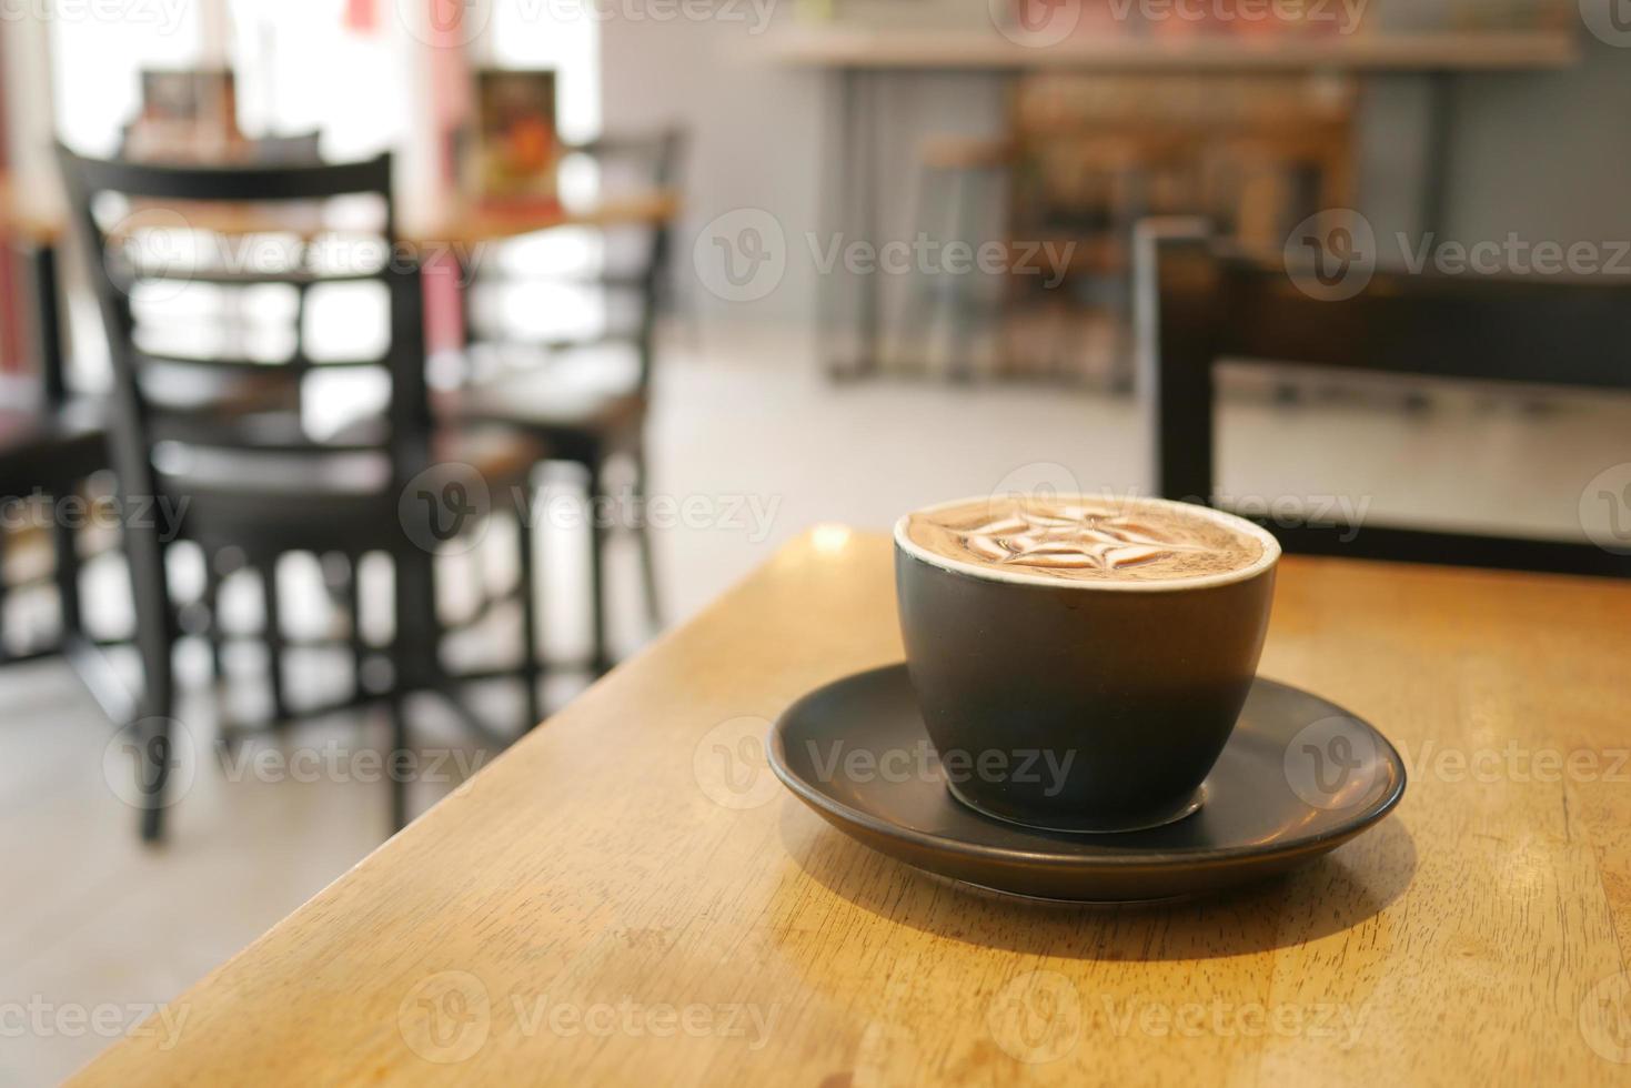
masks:
{"label": "dark grey ceramic cup with pale rim, without the coffee inside", "polygon": [[1065,832],[1156,827],[1200,807],[1258,672],[1280,546],[1244,519],[1184,509],[1261,540],[1261,558],[1166,582],[1063,581],[948,559],[900,519],[907,670],[953,796]]}

